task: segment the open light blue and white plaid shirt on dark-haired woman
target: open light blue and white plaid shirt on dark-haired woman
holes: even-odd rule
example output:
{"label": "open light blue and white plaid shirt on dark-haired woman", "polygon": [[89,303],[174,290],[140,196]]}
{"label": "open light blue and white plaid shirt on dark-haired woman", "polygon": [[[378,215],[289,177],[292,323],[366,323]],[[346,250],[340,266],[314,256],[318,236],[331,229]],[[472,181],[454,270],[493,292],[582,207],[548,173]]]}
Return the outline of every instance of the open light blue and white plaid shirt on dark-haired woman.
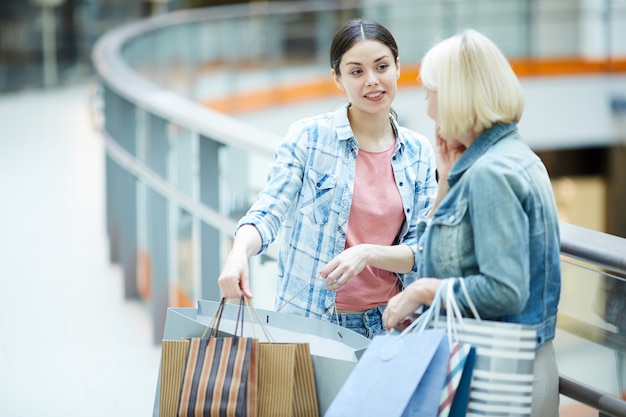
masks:
{"label": "open light blue and white plaid shirt on dark-haired woman", "polygon": [[[417,219],[437,192],[435,156],[425,137],[390,120],[397,138],[391,164],[405,213],[396,243],[415,253]],[[345,248],[358,150],[347,105],[293,123],[274,155],[265,188],[239,221],[237,227],[258,229],[259,253],[279,240],[275,308],[281,312],[332,318],[335,293],[318,271]],[[414,267],[398,274],[403,286],[415,272]]]}

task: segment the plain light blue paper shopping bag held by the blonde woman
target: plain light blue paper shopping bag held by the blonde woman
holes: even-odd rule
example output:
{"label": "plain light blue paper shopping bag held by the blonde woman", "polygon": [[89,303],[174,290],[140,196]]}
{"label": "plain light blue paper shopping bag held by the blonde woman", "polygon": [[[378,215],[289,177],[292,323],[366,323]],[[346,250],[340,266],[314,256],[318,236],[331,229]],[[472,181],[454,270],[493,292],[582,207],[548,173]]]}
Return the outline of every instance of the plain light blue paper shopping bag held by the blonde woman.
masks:
{"label": "plain light blue paper shopping bag held by the blonde woman", "polygon": [[449,358],[444,329],[376,336],[325,417],[436,417]]}

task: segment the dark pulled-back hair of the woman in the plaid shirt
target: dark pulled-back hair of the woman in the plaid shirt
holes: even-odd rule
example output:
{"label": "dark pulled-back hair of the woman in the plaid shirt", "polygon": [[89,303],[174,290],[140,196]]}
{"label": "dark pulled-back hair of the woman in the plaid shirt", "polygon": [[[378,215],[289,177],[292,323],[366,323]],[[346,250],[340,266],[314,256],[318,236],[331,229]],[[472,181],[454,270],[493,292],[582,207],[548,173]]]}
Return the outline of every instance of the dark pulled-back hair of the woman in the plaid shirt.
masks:
{"label": "dark pulled-back hair of the woman in the plaid shirt", "polygon": [[398,59],[398,45],[387,28],[371,20],[352,19],[335,33],[333,42],[330,44],[330,67],[335,70],[337,75],[341,75],[339,64],[343,54],[355,43],[366,39],[375,40],[388,46],[394,61]]}

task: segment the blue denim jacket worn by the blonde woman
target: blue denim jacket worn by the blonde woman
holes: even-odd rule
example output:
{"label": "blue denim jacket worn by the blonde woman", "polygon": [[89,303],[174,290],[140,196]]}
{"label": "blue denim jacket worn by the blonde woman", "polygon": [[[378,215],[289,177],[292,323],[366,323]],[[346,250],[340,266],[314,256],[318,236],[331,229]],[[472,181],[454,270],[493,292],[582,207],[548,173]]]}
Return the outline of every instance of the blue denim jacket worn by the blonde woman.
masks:
{"label": "blue denim jacket worn by the blonde woman", "polygon": [[[448,174],[450,190],[418,227],[420,277],[462,277],[481,318],[554,338],[561,289],[557,209],[545,166],[516,125],[483,132]],[[471,316],[457,283],[455,298]],[[444,300],[445,301],[445,300]]]}

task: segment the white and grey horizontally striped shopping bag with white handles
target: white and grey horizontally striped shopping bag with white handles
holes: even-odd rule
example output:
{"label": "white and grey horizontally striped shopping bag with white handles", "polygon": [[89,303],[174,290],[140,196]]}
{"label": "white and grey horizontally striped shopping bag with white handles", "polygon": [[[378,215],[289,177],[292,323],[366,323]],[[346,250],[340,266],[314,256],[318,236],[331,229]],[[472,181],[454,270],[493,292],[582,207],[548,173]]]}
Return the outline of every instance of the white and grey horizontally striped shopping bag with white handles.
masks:
{"label": "white and grey horizontally striped shopping bag with white handles", "polygon": [[[458,279],[474,318],[462,317],[450,279],[447,315],[454,339],[476,350],[467,416],[529,417],[532,410],[536,335],[534,326],[482,320],[463,279]],[[456,306],[456,307],[455,307]]]}

